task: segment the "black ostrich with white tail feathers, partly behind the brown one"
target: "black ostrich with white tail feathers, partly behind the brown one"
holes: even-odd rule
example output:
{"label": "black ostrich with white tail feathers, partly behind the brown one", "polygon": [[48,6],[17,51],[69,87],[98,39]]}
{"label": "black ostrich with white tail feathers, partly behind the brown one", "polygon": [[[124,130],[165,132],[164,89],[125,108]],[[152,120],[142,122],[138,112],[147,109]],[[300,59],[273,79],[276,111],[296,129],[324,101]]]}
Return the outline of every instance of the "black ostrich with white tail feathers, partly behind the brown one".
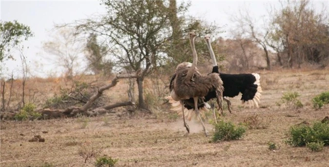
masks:
{"label": "black ostrich with white tail feathers, partly behind the brown one", "polygon": [[[260,86],[260,76],[257,73],[252,73],[252,74],[225,74],[225,73],[220,73],[218,70],[218,65],[216,62],[215,54],[213,53],[213,48],[210,42],[210,35],[205,36],[205,40],[210,52],[210,55],[212,57],[213,61],[213,71],[212,73],[218,73],[220,78],[223,81],[223,86],[224,86],[224,101],[227,102],[228,104],[228,109],[232,113],[231,109],[231,102],[228,100],[226,97],[235,97],[239,93],[242,94],[241,101],[243,104],[246,102],[250,102],[250,106],[253,104],[256,105],[258,108],[258,103],[260,102],[260,92],[262,92],[262,88]],[[211,73],[211,74],[212,74]],[[205,102],[216,98],[215,92],[209,92],[205,96]]]}

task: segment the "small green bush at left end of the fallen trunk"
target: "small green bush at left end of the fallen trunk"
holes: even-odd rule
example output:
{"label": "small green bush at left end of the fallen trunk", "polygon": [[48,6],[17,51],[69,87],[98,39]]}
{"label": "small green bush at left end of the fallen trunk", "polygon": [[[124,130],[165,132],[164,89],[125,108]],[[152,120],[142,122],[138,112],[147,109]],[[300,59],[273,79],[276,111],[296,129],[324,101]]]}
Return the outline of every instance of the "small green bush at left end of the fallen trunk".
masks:
{"label": "small green bush at left end of the fallen trunk", "polygon": [[32,103],[25,104],[24,107],[17,113],[14,118],[19,121],[34,120],[41,117],[41,114],[35,112],[36,106]]}

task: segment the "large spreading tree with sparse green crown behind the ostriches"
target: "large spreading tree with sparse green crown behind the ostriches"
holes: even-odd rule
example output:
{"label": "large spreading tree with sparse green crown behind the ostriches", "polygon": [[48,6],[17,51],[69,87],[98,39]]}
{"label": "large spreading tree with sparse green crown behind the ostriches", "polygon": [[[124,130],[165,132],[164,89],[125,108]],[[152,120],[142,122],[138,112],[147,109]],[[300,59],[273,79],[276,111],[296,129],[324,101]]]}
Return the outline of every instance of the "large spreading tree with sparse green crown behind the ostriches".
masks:
{"label": "large spreading tree with sparse green crown behind the ostriches", "polygon": [[[102,4],[106,6],[107,14],[77,21],[74,24],[76,33],[93,33],[106,42],[116,66],[142,70],[137,78],[138,106],[148,110],[143,98],[144,78],[159,66],[180,63],[183,57],[191,55],[185,33],[192,29],[198,33],[202,29],[201,33],[205,33],[204,30],[211,28],[205,28],[202,21],[186,17],[189,3],[182,2],[177,6],[175,0],[102,0]],[[207,49],[204,43],[202,47]],[[192,60],[192,56],[189,57]]]}

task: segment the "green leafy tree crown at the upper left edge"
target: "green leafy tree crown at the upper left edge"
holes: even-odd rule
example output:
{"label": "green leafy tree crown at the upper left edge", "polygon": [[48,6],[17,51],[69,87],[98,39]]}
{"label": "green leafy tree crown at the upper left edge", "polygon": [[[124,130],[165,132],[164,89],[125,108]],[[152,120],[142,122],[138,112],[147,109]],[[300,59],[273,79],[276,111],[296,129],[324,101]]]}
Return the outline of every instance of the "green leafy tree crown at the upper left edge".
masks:
{"label": "green leafy tree crown at the upper left edge", "polygon": [[32,37],[33,33],[29,26],[18,21],[0,21],[0,62],[5,58],[12,58],[10,50],[24,40]]}

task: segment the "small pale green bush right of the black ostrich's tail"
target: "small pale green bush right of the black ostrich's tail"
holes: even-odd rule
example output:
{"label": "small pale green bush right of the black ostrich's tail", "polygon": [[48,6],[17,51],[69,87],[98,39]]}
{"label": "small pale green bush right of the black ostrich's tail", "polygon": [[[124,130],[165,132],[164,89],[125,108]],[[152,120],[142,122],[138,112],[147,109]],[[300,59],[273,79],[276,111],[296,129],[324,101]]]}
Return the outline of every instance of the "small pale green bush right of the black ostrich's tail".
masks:
{"label": "small pale green bush right of the black ostrich's tail", "polygon": [[276,105],[286,104],[287,107],[291,108],[302,108],[303,104],[298,99],[300,94],[298,92],[286,92],[282,95],[281,101],[276,102]]}

